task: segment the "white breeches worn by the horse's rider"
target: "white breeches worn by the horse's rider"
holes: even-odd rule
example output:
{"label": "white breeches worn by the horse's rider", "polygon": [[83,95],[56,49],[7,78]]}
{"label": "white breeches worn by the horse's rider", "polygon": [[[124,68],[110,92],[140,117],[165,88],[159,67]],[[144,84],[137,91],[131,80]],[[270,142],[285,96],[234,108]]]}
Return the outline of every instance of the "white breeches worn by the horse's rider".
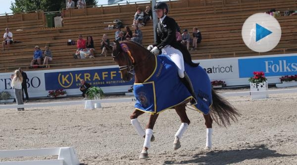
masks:
{"label": "white breeches worn by the horse's rider", "polygon": [[180,78],[184,78],[185,66],[184,66],[184,58],[183,58],[182,52],[170,45],[167,45],[162,48],[162,54],[169,56],[169,58],[177,66],[178,76]]}

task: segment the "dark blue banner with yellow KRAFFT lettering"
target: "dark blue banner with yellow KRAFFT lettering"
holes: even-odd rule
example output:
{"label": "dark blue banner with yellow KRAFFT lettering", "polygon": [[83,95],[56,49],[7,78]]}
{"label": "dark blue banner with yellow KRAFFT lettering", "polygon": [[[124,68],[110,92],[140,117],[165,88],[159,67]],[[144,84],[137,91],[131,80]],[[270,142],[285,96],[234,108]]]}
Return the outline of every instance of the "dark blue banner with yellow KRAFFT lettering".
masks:
{"label": "dark blue banner with yellow KRAFFT lettering", "polygon": [[133,85],[134,79],[123,81],[118,67],[45,73],[46,90],[76,89],[83,79],[92,86]]}

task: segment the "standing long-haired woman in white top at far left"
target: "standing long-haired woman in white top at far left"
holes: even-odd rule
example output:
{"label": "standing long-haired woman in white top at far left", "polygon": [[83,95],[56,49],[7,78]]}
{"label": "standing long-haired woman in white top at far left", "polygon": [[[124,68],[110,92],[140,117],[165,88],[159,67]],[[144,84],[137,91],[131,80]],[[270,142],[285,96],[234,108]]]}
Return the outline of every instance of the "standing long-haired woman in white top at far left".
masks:
{"label": "standing long-haired woman in white top at far left", "polygon": [[[11,87],[14,88],[14,97],[16,104],[24,104],[22,91],[23,77],[19,70],[14,71],[14,76],[11,81]],[[24,108],[17,108],[17,110],[25,110]]]}

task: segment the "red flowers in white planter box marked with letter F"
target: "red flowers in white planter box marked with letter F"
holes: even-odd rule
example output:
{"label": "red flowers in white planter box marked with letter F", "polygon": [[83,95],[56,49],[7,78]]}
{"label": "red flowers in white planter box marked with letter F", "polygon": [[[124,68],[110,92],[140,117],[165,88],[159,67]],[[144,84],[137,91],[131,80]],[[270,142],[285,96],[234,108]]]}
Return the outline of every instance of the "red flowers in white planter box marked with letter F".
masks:
{"label": "red flowers in white planter box marked with letter F", "polygon": [[[250,77],[248,79],[248,81],[249,81],[249,86],[250,86],[251,92],[267,91],[268,90],[267,79],[266,79],[263,71],[254,71],[253,77]],[[251,93],[251,99],[264,99],[264,98],[268,98],[268,95],[267,94],[253,95]]]}

